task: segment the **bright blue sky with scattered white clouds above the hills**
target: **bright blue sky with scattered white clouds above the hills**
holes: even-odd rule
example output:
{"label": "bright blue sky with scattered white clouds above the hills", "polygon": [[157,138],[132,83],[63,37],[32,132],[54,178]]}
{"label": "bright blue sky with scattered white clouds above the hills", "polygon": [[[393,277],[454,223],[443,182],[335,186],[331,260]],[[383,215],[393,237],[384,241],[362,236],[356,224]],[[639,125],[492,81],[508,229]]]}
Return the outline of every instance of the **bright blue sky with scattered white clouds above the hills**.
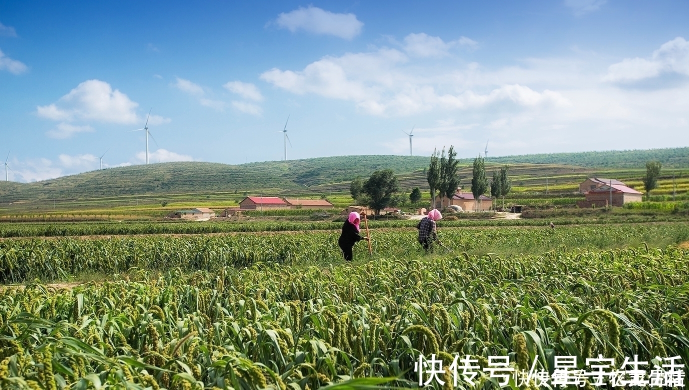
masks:
{"label": "bright blue sky with scattered white clouds above the hills", "polygon": [[[689,144],[689,2],[3,1],[10,180]],[[4,177],[3,177],[4,179]]]}

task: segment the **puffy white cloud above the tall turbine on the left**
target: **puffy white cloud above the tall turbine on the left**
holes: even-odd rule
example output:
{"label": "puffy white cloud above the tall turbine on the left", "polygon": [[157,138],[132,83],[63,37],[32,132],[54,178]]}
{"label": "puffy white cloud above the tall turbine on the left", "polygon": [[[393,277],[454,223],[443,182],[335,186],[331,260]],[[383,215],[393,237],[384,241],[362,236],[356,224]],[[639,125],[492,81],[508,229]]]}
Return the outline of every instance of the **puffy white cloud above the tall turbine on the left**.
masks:
{"label": "puffy white cloud above the tall turbine on the left", "polygon": [[[61,121],[96,120],[97,122],[136,124],[143,122],[136,115],[138,103],[130,100],[119,89],[101,80],[86,80],[51,105],[38,106],[43,118]],[[169,122],[167,118],[151,116],[150,123]]]}

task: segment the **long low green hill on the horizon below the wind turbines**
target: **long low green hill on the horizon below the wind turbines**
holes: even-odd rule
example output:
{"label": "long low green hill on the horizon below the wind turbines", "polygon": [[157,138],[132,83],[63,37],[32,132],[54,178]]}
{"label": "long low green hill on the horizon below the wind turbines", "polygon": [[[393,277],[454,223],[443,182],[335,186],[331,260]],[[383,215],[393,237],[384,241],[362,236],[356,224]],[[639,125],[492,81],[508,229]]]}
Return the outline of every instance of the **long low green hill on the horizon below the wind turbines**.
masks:
{"label": "long low green hill on the horizon below the wind turbines", "polygon": [[[687,167],[689,148],[516,155],[489,158],[486,163],[539,164],[524,168],[526,180],[526,176],[557,175],[558,169],[570,172],[576,169],[580,174],[593,169],[639,170],[648,160],[659,160],[664,168]],[[462,175],[471,175],[468,165],[472,161],[461,160]],[[256,190],[309,193],[311,187],[312,191],[345,190],[357,175],[367,177],[378,169],[393,169],[404,184],[424,186],[422,170],[428,163],[427,156],[403,155],[353,155],[240,165],[167,162],[91,171],[28,184],[0,182],[0,199],[4,203]]]}

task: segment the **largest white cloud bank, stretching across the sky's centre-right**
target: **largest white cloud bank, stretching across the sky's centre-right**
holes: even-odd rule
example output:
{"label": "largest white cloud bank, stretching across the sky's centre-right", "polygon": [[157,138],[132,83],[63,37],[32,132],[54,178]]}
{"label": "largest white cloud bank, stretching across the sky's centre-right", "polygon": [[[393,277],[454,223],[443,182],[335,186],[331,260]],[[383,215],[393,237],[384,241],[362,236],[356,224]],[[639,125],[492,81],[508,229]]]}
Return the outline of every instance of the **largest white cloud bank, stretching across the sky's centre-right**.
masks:
{"label": "largest white cloud bank, stretching across the sky's centre-right", "polygon": [[[325,57],[297,72],[270,69],[260,77],[294,94],[311,93],[350,100],[359,109],[378,116],[475,108],[500,101],[521,106],[568,104],[556,91],[537,92],[516,83],[493,87],[480,94],[458,85],[453,74],[419,76],[409,72],[402,67],[407,61],[398,50],[381,49]],[[486,89],[486,85],[483,88]],[[457,93],[457,89],[463,91]],[[447,91],[440,92],[442,90]]]}

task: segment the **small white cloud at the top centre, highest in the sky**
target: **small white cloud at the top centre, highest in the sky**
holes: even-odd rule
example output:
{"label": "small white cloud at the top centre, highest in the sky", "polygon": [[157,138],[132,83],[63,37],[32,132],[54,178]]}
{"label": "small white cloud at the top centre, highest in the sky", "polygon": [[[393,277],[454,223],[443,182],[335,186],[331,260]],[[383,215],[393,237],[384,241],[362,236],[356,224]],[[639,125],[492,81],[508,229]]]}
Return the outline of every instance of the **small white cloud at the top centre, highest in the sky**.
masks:
{"label": "small white cloud at the top centre, highest in the sky", "polygon": [[353,39],[364,26],[355,14],[336,14],[313,6],[279,14],[276,23],[291,32],[305,30],[342,39]]}

